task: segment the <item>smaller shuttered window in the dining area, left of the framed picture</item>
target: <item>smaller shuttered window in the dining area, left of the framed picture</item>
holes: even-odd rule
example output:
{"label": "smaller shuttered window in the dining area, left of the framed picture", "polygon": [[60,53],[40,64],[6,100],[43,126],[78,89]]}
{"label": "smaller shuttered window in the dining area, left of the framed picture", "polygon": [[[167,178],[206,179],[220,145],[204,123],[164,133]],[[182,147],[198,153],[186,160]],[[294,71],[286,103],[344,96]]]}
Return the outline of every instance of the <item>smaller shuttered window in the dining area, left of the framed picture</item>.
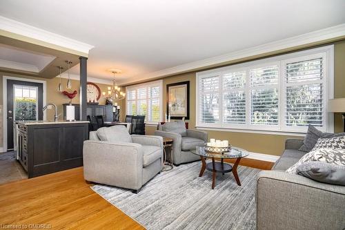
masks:
{"label": "smaller shuttered window in the dining area, left of the framed picture", "polygon": [[126,114],[145,115],[148,123],[161,121],[163,82],[148,82],[126,87]]}

